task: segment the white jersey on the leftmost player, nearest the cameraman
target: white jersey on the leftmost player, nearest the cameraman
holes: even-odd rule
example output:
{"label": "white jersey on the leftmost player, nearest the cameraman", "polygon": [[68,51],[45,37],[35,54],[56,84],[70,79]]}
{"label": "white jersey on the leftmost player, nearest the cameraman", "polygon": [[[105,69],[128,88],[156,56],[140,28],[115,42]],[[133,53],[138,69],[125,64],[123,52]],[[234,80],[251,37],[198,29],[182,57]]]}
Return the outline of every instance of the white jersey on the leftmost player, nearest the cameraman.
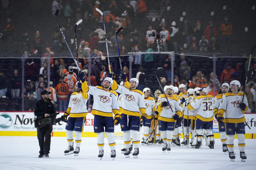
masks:
{"label": "white jersey on the leftmost player, nearest the cameraman", "polygon": [[85,92],[74,92],[70,96],[67,113],[69,117],[86,117],[88,114],[86,103],[88,95]]}

